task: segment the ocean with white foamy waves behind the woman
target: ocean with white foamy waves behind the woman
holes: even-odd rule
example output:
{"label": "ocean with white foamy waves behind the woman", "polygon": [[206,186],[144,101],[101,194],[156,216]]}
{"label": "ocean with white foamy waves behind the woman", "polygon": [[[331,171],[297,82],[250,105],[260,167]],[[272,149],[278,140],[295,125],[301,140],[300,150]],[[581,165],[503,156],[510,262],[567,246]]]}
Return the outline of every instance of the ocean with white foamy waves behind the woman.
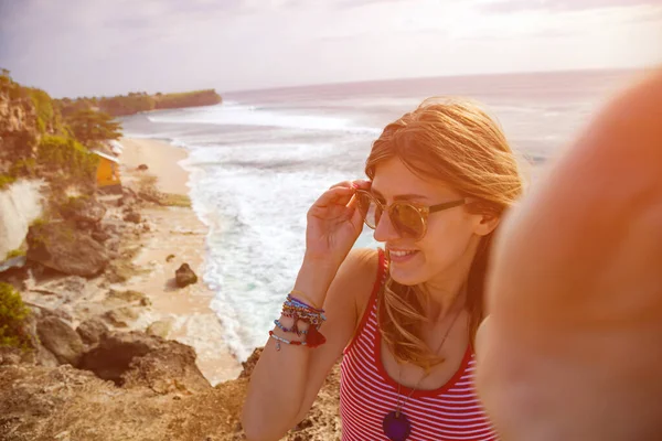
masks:
{"label": "ocean with white foamy waves behind the woman", "polygon": [[[332,84],[222,94],[217,106],[124,118],[125,136],[189,151],[193,208],[209,226],[204,281],[239,359],[263,345],[305,251],[306,213],[332,184],[364,178],[382,128],[430,96],[483,103],[525,170],[558,154],[623,71]],[[222,87],[217,88],[222,90]],[[365,228],[357,247],[376,246]]]}

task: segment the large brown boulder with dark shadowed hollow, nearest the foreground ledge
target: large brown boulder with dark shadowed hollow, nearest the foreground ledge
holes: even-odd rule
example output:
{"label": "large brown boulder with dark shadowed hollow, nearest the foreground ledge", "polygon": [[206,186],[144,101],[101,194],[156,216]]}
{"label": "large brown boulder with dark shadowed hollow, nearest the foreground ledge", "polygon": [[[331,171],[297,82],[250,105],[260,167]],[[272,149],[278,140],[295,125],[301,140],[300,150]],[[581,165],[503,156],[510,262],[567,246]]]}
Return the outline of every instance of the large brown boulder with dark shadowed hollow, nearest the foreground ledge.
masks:
{"label": "large brown boulder with dark shadowed hollow, nearest the foreground ledge", "polygon": [[162,394],[211,388],[191,346],[141,332],[106,335],[83,355],[81,368],[118,386],[146,386]]}

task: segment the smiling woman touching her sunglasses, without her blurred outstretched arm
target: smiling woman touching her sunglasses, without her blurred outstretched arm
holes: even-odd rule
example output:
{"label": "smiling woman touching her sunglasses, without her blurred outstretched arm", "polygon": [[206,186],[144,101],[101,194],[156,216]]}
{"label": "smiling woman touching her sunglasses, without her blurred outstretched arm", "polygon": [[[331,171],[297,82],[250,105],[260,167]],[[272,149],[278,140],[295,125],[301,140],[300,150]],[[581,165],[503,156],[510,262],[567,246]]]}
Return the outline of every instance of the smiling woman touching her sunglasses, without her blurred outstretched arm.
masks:
{"label": "smiling woman touching her sunglasses, without her blurred outstretched arm", "polygon": [[[386,126],[366,174],[308,213],[301,269],[250,379],[246,434],[281,438],[344,354],[343,440],[495,439],[472,386],[473,340],[492,236],[522,192],[515,158],[476,105],[428,100]],[[385,251],[350,252],[364,224]]]}

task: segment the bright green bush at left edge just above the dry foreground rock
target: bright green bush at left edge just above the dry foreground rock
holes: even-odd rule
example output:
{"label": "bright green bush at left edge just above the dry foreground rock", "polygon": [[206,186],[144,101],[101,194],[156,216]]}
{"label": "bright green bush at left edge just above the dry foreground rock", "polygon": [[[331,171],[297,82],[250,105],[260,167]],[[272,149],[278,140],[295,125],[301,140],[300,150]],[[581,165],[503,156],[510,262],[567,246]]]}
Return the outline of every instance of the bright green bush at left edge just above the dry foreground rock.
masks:
{"label": "bright green bush at left edge just above the dry foreground rock", "polygon": [[30,347],[30,336],[23,323],[30,310],[9,283],[0,282],[0,346]]}

